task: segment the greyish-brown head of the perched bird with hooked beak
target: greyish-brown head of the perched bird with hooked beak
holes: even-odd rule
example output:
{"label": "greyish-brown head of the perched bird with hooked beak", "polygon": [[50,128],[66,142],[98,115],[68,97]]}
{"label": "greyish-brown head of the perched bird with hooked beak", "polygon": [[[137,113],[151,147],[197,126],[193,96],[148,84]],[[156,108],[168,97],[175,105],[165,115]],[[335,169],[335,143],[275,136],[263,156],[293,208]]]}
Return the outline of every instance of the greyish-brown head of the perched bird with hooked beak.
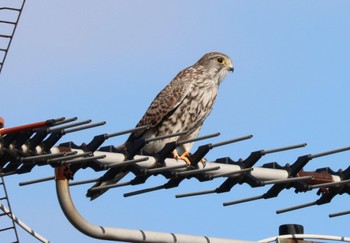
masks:
{"label": "greyish-brown head of the perched bird with hooked beak", "polygon": [[219,52],[205,54],[196,64],[207,70],[209,75],[217,77],[219,82],[225,78],[229,71],[233,72],[234,70],[231,59]]}

